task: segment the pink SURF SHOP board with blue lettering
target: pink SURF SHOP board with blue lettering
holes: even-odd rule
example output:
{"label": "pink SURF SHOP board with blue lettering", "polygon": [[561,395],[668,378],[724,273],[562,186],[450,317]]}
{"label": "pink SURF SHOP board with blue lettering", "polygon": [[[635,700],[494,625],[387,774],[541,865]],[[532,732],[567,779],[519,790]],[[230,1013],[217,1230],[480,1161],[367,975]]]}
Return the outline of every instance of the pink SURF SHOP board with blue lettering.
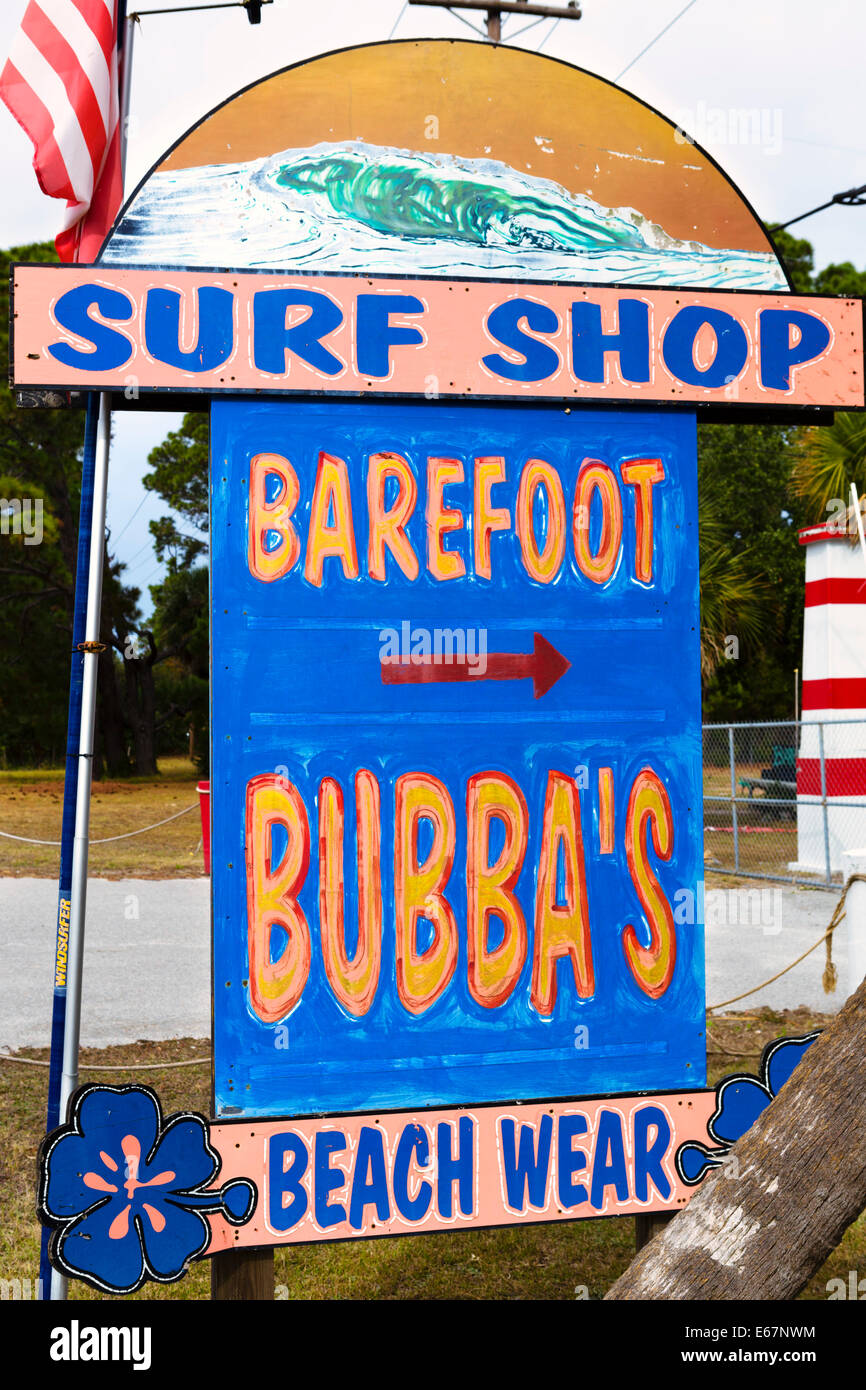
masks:
{"label": "pink SURF SHOP board with blue lettering", "polygon": [[856,299],[14,270],[17,388],[863,407]]}

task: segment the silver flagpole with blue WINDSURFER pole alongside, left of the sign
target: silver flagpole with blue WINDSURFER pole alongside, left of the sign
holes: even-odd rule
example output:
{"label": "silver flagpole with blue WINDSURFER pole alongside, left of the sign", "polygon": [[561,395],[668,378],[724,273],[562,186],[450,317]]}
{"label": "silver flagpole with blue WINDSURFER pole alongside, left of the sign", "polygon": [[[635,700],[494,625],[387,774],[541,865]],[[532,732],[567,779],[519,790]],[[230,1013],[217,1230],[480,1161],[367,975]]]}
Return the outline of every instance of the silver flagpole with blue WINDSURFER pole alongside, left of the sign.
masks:
{"label": "silver flagpole with blue WINDSURFER pole alongside, left of the sign", "polygon": [[[133,26],[135,21],[126,19],[126,0],[118,0],[117,38],[122,60],[121,92],[118,93],[121,175],[125,168],[126,153]],[[67,771],[60,851],[54,1002],[46,1116],[47,1133],[56,1129],[61,1119],[65,1119],[70,1097],[78,1086],[90,787],[93,781],[103,556],[106,548],[106,499],[111,441],[110,402],[111,398],[107,392],[100,395],[92,392],[88,396],[85,424],[85,455],[78,517],[75,612],[72,621]],[[46,1290],[50,1287],[51,1300],[63,1301],[67,1298],[68,1282],[63,1275],[51,1269],[49,1238],[50,1232],[47,1227],[43,1227],[39,1262],[40,1295],[44,1298]]]}

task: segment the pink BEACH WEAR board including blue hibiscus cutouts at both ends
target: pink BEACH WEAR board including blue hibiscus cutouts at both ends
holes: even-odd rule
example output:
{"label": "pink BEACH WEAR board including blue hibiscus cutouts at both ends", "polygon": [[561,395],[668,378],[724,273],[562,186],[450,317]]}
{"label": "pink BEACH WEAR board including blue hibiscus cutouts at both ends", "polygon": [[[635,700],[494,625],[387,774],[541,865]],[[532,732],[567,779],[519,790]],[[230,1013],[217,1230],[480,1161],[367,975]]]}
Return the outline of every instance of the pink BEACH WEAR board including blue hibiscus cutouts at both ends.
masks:
{"label": "pink BEACH WEAR board including blue hibiscus cutouts at both ends", "polygon": [[67,1277],[128,1294],[243,1247],[676,1212],[819,1037],[714,1091],[209,1123],[146,1086],[81,1087],[39,1151],[39,1216]]}

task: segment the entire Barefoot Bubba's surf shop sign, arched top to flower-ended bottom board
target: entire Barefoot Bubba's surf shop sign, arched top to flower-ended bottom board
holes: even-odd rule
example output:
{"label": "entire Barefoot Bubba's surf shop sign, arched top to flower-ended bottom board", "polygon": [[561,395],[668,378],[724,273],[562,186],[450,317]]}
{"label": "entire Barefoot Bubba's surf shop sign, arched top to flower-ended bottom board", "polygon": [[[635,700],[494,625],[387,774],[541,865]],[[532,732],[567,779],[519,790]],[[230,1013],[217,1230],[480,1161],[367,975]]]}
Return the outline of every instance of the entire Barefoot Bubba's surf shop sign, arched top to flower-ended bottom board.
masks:
{"label": "entire Barefoot Bubba's surf shop sign, arched top to flower-ended bottom board", "polygon": [[862,407],[862,306],[794,296],[628,93],[436,42],[256,83],[96,265],[14,278],[17,386],[199,392],[211,431],[214,1116],[82,1094],[58,1266],[129,1291],[684,1205],[737,1129],[703,1088],[696,413]]}

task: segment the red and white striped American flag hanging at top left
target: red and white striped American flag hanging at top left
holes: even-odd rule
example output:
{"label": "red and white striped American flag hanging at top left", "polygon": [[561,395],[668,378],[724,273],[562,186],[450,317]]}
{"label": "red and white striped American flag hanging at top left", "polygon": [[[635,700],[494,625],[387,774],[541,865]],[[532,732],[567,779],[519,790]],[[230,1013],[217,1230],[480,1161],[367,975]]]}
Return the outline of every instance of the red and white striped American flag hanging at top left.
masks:
{"label": "red and white striped American flag hanging at top left", "polygon": [[122,202],[120,3],[31,0],[0,74],[0,97],[33,142],[39,186],[67,200],[61,260],[95,260]]}

